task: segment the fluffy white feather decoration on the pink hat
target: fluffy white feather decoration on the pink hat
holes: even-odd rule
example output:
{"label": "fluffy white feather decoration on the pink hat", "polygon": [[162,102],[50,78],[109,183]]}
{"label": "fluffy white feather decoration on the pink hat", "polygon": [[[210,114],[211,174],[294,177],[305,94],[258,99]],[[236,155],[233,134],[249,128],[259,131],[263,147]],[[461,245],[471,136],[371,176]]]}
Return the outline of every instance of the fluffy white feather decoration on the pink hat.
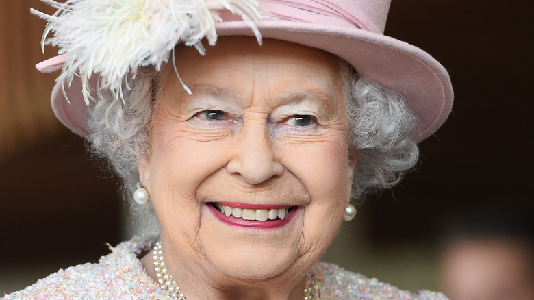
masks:
{"label": "fluffy white feather decoration on the pink hat", "polygon": [[[123,99],[128,77],[134,78],[140,66],[160,70],[178,42],[203,55],[203,38],[209,45],[216,43],[221,10],[240,16],[262,42],[255,23],[264,13],[257,0],[41,1],[57,8],[52,15],[31,10],[48,22],[42,48],[53,45],[59,54],[68,54],[58,81],[70,86],[80,76],[86,105],[94,101],[88,84],[94,73],[101,76],[97,89],[109,88],[116,99]],[[53,37],[47,38],[50,32]]]}

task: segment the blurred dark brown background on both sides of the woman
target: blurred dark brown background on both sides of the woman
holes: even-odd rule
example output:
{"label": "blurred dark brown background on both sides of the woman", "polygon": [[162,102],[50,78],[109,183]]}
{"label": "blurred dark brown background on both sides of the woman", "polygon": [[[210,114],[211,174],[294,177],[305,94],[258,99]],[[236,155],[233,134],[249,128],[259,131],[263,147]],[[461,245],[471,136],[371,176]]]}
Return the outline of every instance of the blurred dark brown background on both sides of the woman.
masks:
{"label": "blurred dark brown background on both sides of the woman", "polygon": [[[58,74],[34,68],[57,49],[42,55],[45,23],[29,8],[52,11],[38,0],[0,0],[0,7],[3,295],[58,268],[97,262],[106,243],[129,231],[116,178],[53,116],[49,95]],[[393,190],[368,196],[324,260],[403,289],[452,295],[444,283],[451,245],[465,232],[487,237],[465,228],[513,227],[520,229],[503,236],[533,236],[533,12],[529,0],[392,1],[385,34],[444,64],[455,88],[453,113],[420,144],[417,170]],[[487,225],[495,216],[506,218]]]}

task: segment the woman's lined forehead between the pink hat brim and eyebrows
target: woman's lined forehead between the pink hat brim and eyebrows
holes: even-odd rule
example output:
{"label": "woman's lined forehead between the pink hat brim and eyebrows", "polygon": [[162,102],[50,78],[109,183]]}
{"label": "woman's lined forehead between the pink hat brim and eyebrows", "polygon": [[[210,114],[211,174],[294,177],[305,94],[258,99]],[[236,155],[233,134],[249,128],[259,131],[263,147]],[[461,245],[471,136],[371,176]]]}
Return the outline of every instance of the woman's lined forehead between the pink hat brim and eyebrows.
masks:
{"label": "woman's lined forehead between the pink hat brim and eyebrows", "polygon": [[[202,87],[197,89],[200,92],[210,90],[209,86],[231,86],[242,92],[252,79],[286,95],[307,90],[333,96],[342,89],[339,58],[290,42],[267,39],[260,46],[254,38],[223,37],[215,47],[207,47],[205,56],[192,47],[179,46],[175,57],[181,79],[193,91],[195,87]],[[179,90],[173,87],[183,89],[172,63],[164,73],[164,90],[171,88],[174,94]]]}

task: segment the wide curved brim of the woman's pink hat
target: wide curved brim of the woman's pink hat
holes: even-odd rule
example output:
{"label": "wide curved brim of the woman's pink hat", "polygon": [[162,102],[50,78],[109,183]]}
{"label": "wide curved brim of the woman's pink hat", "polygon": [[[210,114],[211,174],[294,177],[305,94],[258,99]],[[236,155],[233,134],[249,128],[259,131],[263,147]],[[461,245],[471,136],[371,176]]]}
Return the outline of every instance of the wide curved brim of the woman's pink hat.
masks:
{"label": "wide curved brim of the woman's pink hat", "polygon": [[[218,36],[254,36],[243,21],[226,21],[216,27]],[[414,133],[417,142],[431,136],[450,114],[453,105],[450,77],[442,64],[418,47],[352,27],[264,20],[257,28],[262,38],[294,42],[338,55],[360,75],[403,95],[418,116],[419,125]],[[57,59],[53,63],[60,65]],[[96,76],[92,76],[92,86],[96,82]],[[87,107],[79,78],[75,78],[71,86],[65,84],[64,89],[70,103],[64,97],[61,82],[52,92],[56,116],[73,132],[88,136]]]}

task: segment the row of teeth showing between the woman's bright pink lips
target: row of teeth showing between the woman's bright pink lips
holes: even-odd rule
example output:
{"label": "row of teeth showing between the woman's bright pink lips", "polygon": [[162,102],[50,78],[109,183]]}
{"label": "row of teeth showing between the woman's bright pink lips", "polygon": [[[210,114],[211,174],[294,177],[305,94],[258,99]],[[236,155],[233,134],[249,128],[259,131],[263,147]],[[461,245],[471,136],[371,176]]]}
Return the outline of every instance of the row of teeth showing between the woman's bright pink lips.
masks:
{"label": "row of teeth showing between the woman's bright pink lips", "polygon": [[249,208],[232,208],[228,205],[220,203],[209,203],[218,212],[230,218],[242,218],[250,221],[267,221],[267,220],[283,220],[288,216],[289,212],[297,208],[296,206],[290,206],[289,208],[262,208],[259,210]]}

